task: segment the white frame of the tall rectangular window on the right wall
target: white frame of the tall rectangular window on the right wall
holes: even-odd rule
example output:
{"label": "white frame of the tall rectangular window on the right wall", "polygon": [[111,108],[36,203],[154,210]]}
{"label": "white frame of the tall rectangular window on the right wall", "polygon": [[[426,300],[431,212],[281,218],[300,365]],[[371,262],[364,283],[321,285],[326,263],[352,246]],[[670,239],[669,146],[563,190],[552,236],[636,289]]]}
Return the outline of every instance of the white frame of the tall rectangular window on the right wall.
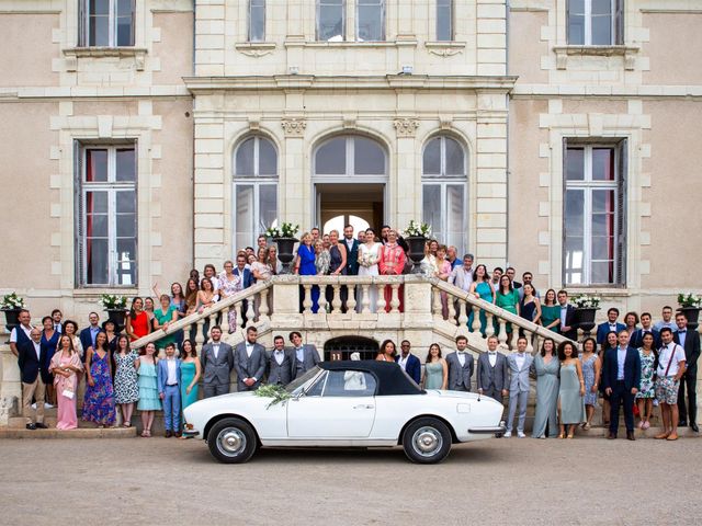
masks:
{"label": "white frame of the tall rectangular window on the right wall", "polygon": [[[595,149],[611,149],[613,155],[613,170],[614,179],[612,181],[598,181],[592,179],[592,150]],[[569,181],[567,179],[567,158],[569,149],[582,149],[584,150],[584,179]],[[577,139],[564,139],[564,156],[563,156],[563,250],[562,250],[562,265],[563,275],[562,281],[564,286],[568,287],[608,287],[608,288],[623,288],[626,287],[626,181],[627,181],[627,163],[626,163],[626,139],[618,141],[597,140],[597,141],[582,141]],[[582,207],[582,238],[584,238],[584,251],[582,251],[582,271],[580,283],[570,283],[569,274],[573,274],[571,270],[568,270],[568,252],[567,252],[567,228],[566,228],[566,194],[568,190],[581,190],[584,192],[584,207]],[[613,191],[613,252],[612,262],[613,279],[611,283],[599,283],[592,281],[592,264],[608,260],[592,260],[592,193],[595,191]]]}

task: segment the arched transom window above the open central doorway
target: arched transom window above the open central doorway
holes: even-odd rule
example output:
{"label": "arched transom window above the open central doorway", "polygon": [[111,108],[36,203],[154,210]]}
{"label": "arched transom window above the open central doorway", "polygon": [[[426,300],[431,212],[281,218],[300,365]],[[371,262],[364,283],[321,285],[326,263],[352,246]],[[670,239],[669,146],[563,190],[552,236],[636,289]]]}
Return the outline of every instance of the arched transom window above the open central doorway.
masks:
{"label": "arched transom window above the open central doorway", "polygon": [[335,137],[315,153],[315,175],[344,178],[384,178],[385,150],[375,140],[361,136]]}

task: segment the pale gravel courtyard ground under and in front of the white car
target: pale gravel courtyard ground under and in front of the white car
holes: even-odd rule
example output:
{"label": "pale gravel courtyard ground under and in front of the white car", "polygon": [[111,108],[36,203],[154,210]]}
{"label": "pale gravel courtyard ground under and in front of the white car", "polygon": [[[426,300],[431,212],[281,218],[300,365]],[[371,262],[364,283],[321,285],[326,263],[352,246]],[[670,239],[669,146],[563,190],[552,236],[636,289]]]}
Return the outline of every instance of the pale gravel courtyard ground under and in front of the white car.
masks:
{"label": "pale gravel courtyard ground under and in front of the white car", "polygon": [[[492,439],[439,466],[401,449],[262,450],[202,442],[2,441],[1,524],[702,524],[702,441]],[[667,495],[667,496],[666,496]]]}

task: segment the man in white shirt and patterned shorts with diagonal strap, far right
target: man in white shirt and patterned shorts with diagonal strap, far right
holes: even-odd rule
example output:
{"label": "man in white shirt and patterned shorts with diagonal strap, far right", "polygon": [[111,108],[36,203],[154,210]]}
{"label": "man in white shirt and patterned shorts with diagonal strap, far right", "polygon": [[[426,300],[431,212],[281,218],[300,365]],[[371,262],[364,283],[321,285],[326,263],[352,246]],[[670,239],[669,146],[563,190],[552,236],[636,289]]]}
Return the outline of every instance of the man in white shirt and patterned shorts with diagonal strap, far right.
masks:
{"label": "man in white shirt and patterned shorts with diagonal strap, far right", "polygon": [[678,390],[680,378],[684,374],[684,350],[672,341],[672,331],[668,327],[660,330],[663,347],[658,352],[656,369],[656,398],[660,402],[664,431],[656,438],[678,439]]}

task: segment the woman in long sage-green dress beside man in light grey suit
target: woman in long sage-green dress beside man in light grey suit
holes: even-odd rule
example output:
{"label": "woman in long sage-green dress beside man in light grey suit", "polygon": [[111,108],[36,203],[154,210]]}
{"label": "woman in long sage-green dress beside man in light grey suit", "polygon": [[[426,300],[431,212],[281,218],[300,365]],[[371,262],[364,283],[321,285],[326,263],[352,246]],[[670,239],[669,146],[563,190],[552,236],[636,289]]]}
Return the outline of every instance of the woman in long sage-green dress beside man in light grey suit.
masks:
{"label": "woman in long sage-green dress beside man in light grey suit", "polygon": [[558,373],[561,364],[556,356],[556,342],[546,338],[541,353],[534,356],[532,370],[536,374],[536,414],[532,436],[534,438],[555,438],[558,430]]}

